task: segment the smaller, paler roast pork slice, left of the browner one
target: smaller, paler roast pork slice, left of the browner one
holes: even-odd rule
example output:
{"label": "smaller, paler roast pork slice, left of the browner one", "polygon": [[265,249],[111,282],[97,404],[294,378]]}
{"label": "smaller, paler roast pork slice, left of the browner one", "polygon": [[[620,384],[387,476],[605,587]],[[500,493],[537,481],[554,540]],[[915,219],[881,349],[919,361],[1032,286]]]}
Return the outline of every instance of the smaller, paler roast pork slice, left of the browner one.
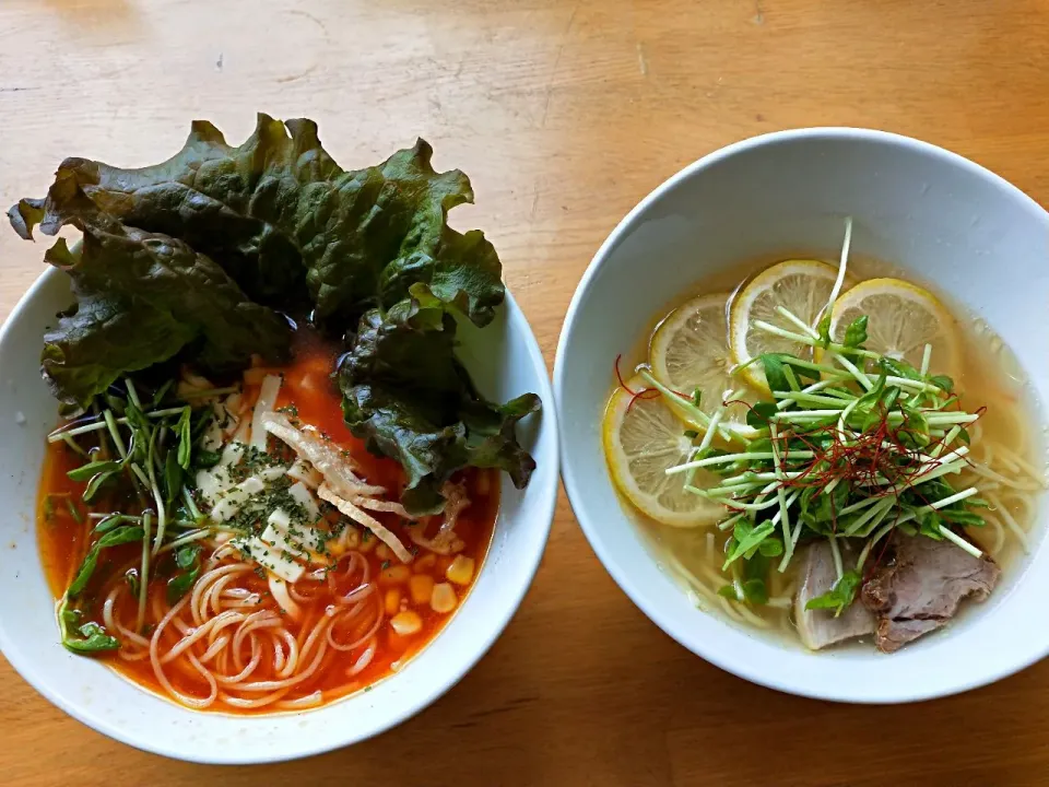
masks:
{"label": "smaller, paler roast pork slice, left of the browner one", "polygon": [[[842,544],[842,563],[846,568],[851,568],[856,565],[856,553],[847,542]],[[861,603],[852,603],[837,618],[833,610],[805,609],[810,599],[827,592],[837,579],[829,542],[816,541],[805,548],[800,577],[801,587],[794,597],[794,622],[805,647],[818,650],[874,633],[874,615]]]}

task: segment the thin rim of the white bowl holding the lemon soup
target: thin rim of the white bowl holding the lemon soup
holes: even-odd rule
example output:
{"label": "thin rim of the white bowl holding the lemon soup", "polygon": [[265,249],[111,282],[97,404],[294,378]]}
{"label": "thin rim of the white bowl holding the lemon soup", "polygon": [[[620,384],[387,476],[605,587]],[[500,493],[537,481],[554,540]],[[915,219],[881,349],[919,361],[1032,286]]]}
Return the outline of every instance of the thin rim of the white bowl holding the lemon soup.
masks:
{"label": "thin rim of the white bowl holding the lemon soup", "polygon": [[[680,184],[724,160],[738,156],[740,154],[745,154],[757,148],[767,148],[802,140],[852,141],[860,143],[879,143],[899,149],[909,149],[916,153],[938,158],[945,164],[959,167],[969,174],[988,181],[998,189],[1003,190],[1013,199],[1017,199],[1021,204],[1029,210],[1033,210],[1036,214],[1040,213],[1045,219],[1046,224],[1049,225],[1049,211],[1042,208],[1029,195],[1025,193],[1023,190],[1007,181],[1002,176],[991,172],[987,167],[983,167],[969,158],[966,158],[958,153],[954,153],[953,151],[941,148],[940,145],[931,142],[924,142],[912,137],[868,128],[856,128],[848,126],[816,126],[788,129],[783,131],[773,131],[730,143],[711,151],[710,153],[682,167],[659,184],[656,188],[653,188],[615,225],[608,238],[605,238],[605,240],[594,252],[593,258],[587,266],[579,284],[576,286],[576,290],[571,296],[571,302],[568,305],[568,310],[565,314],[565,320],[562,325],[561,336],[557,340],[557,350],[554,356],[554,401],[556,402],[558,416],[563,413],[563,392],[566,385],[566,376],[568,375],[568,368],[565,363],[565,354],[567,353],[569,336],[571,334],[576,319],[578,318],[578,313],[582,301],[592,286],[601,265],[609,256],[611,256],[611,254],[620,245],[620,242],[641,222],[643,216],[647,213],[649,208],[662,199],[665,193],[675,189]],[[634,580],[629,568],[614,560],[611,550],[604,544],[601,528],[591,521],[587,514],[587,506],[585,503],[587,491],[581,486],[576,475],[575,468],[567,456],[567,443],[562,439],[562,482],[565,485],[565,492],[568,496],[569,505],[571,505],[573,513],[575,514],[576,521],[579,522],[579,527],[582,529],[590,548],[593,550],[605,571],[612,576],[616,585],[620,586],[620,589],[626,594],[630,601],[633,601],[634,604],[641,610],[641,612],[644,612],[649,620],[659,626],[663,633],[674,639],[686,650],[692,651],[696,656],[699,656],[704,660],[724,670],[726,672],[736,676],[738,678],[742,678],[751,683],[785,692],[787,694],[794,694],[797,696],[804,696],[813,700],[826,700],[830,702],[865,705],[888,705],[897,703],[921,702],[941,696],[951,696],[953,694],[978,689],[1019,672],[1021,670],[1049,655],[1049,646],[1042,648],[1040,651],[1038,649],[1033,649],[1032,651],[1025,653],[999,668],[989,670],[987,672],[981,672],[978,676],[966,677],[964,679],[956,680],[951,685],[917,691],[899,691],[892,686],[887,686],[885,689],[884,696],[876,698],[859,695],[852,692],[848,685],[793,685],[791,684],[789,677],[787,679],[781,679],[775,673],[770,673],[768,671],[763,672],[749,667],[741,667],[739,663],[732,661],[730,658],[730,653],[721,649],[720,647],[710,646],[705,642],[697,643],[695,641],[689,641],[684,633],[681,632],[681,626],[675,623],[674,616],[665,613],[659,606],[650,600],[648,591]]]}

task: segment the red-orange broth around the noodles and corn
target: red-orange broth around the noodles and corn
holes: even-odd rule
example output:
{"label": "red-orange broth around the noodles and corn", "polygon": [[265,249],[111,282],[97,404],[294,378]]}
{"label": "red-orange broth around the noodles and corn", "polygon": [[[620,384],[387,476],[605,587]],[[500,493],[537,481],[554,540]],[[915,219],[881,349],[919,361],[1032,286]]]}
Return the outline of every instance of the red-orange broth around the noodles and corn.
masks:
{"label": "red-orange broth around the noodles and corn", "polygon": [[[377,483],[389,490],[389,497],[396,500],[403,486],[403,472],[400,466],[387,458],[376,457],[369,454],[364,443],[350,434],[349,428],[342,420],[341,398],[330,377],[330,371],[333,368],[335,351],[316,334],[309,331],[298,331],[295,342],[294,361],[286,367],[274,369],[284,377],[284,384],[281,389],[278,407],[294,404],[298,412],[298,420],[302,424],[311,425],[329,437],[340,447],[346,449],[362,474],[369,483]],[[246,387],[249,389],[250,387]],[[252,391],[245,391],[248,396]],[[37,506],[38,536],[40,544],[42,562],[50,584],[51,590],[57,599],[60,599],[74,576],[78,567],[84,559],[90,547],[91,528],[94,521],[85,518],[84,522],[78,522],[69,510],[66,501],[75,501],[81,513],[85,512],[80,497],[83,494],[85,483],[71,481],[67,472],[82,463],[78,457],[64,443],[52,443],[48,445],[45,458],[44,470],[39,486],[39,498]],[[474,561],[474,574],[471,582],[465,586],[452,584],[456,590],[459,604],[465,599],[476,576],[480,573],[483,560],[492,540],[496,515],[498,513],[498,478],[494,470],[469,469],[461,473],[461,480],[465,484],[468,496],[471,501],[470,506],[462,512],[456,525],[456,535],[463,542],[464,548],[458,554],[472,557]],[[50,503],[48,502],[50,501]],[[95,504],[93,509],[99,512],[111,510],[114,501],[102,501],[102,504]],[[50,513],[48,514],[48,510]],[[392,530],[403,544],[413,552],[417,551],[417,556],[412,564],[409,564],[413,574],[426,573],[433,577],[434,583],[447,582],[445,572],[451,563],[452,555],[434,555],[423,549],[415,548],[410,538],[410,528],[423,528],[427,535],[432,533],[440,521],[440,517],[427,517],[421,519],[414,525],[408,525],[390,513],[369,512],[372,516],[380,520],[382,525]],[[422,650],[447,624],[448,620],[455,614],[455,610],[448,614],[441,614],[434,611],[429,604],[415,604],[411,600],[409,585],[389,585],[379,577],[384,568],[388,566],[401,565],[392,554],[386,554],[385,545],[381,542],[364,531],[362,533],[362,544],[360,552],[368,564],[372,583],[377,583],[377,592],[373,591],[369,600],[377,599],[376,603],[386,602],[386,594],[390,588],[399,588],[401,595],[400,609],[408,609],[416,612],[422,620],[422,629],[411,636],[401,636],[397,634],[390,625],[390,614],[386,614],[381,626],[376,635],[376,653],[370,663],[364,670],[355,674],[352,679],[346,677],[346,670],[352,667],[364,647],[355,648],[352,651],[337,650],[328,648],[321,661],[318,671],[303,683],[294,686],[284,697],[285,701],[307,696],[318,690],[322,692],[322,703],[326,704],[341,696],[352,694],[362,689],[366,689],[379,680],[394,672],[408,658],[411,658]],[[205,550],[207,552],[207,550]],[[384,556],[385,555],[385,556]],[[138,565],[141,560],[141,545],[139,543],[126,544],[110,548],[102,553],[95,577],[89,585],[84,594],[86,600],[85,620],[102,622],[102,603],[105,600],[104,595],[98,590],[103,585],[111,587],[111,577],[115,573],[122,575],[129,567]],[[340,566],[343,564],[340,564]],[[167,580],[174,569],[174,561],[170,553],[160,560],[154,571],[151,571],[151,580],[149,587],[149,608],[151,614],[148,621],[155,625],[157,621],[152,614],[154,606],[166,612],[169,609],[166,590]],[[346,592],[350,587],[342,587],[340,576],[342,571],[332,573],[334,592]],[[103,577],[103,579],[99,579]],[[279,609],[279,604],[272,598],[267,580],[254,572],[249,572],[246,577],[239,579],[236,587],[244,587],[251,592],[258,592],[262,597],[262,606],[272,609]],[[307,629],[309,624],[320,615],[325,614],[326,608],[332,602],[334,592],[325,582],[308,579],[304,576],[295,585],[300,597],[308,597],[310,600],[300,602],[304,610],[303,619],[296,623],[287,615],[284,616],[286,629],[296,637],[302,639],[299,632]],[[95,594],[93,597],[92,594]],[[115,616],[118,620],[133,620],[138,602],[131,594],[123,592],[117,597],[115,603]],[[458,610],[458,604],[456,607]],[[283,614],[283,611],[282,611]],[[114,633],[114,632],[110,632]],[[338,642],[349,643],[355,639],[362,632],[335,630],[332,636]],[[114,633],[115,634],[115,633]],[[165,635],[170,632],[165,632]],[[58,634],[56,631],[56,646],[58,645]],[[175,638],[172,639],[175,642]],[[109,651],[97,656],[108,666],[114,668],[121,676],[134,681],[135,683],[149,689],[157,694],[166,695],[165,690],[158,683],[151,661],[144,658],[138,661],[129,661],[119,656],[119,651]],[[252,680],[273,680],[275,667],[272,663],[260,663],[256,672],[251,676]],[[184,659],[175,659],[165,666],[165,673],[176,690],[193,696],[207,695],[209,688],[207,682],[192,669],[189,669]],[[258,714],[274,713],[272,706],[264,706],[258,709],[247,709],[231,707],[221,701],[216,701],[208,710],[236,714]]]}

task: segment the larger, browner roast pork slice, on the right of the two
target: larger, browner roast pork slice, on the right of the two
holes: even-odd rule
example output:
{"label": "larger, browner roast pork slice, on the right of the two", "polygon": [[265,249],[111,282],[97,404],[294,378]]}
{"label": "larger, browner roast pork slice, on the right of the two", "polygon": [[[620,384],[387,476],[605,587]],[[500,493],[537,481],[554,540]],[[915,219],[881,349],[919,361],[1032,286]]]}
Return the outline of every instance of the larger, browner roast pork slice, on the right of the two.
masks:
{"label": "larger, browner roast pork slice, on the right of the two", "polygon": [[1001,573],[988,557],[974,557],[950,541],[893,537],[895,559],[863,585],[862,599],[877,615],[874,643],[894,653],[944,625],[965,598],[986,599]]}

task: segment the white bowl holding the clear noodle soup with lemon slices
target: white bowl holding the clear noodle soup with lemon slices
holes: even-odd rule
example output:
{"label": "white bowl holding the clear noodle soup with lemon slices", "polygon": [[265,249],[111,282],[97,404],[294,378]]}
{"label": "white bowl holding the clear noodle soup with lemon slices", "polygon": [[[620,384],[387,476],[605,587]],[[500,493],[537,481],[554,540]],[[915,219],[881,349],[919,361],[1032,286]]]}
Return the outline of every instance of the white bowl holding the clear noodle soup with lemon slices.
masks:
{"label": "white bowl holding the clear noodle soup with lemon slices", "polygon": [[1049,401],[1049,214],[976,164],[923,142],[857,129],[773,133],[724,148],[645,198],[576,290],[554,366],[564,482],[590,544],[634,602],[693,653],[741,678],[827,700],[888,703],[965,691],[1049,653],[1049,549],[1040,537],[992,597],[893,656],[808,653],[696,610],[646,552],[605,470],[600,426],[617,353],[667,305],[732,263],[854,254],[934,281],[1011,345]]}

